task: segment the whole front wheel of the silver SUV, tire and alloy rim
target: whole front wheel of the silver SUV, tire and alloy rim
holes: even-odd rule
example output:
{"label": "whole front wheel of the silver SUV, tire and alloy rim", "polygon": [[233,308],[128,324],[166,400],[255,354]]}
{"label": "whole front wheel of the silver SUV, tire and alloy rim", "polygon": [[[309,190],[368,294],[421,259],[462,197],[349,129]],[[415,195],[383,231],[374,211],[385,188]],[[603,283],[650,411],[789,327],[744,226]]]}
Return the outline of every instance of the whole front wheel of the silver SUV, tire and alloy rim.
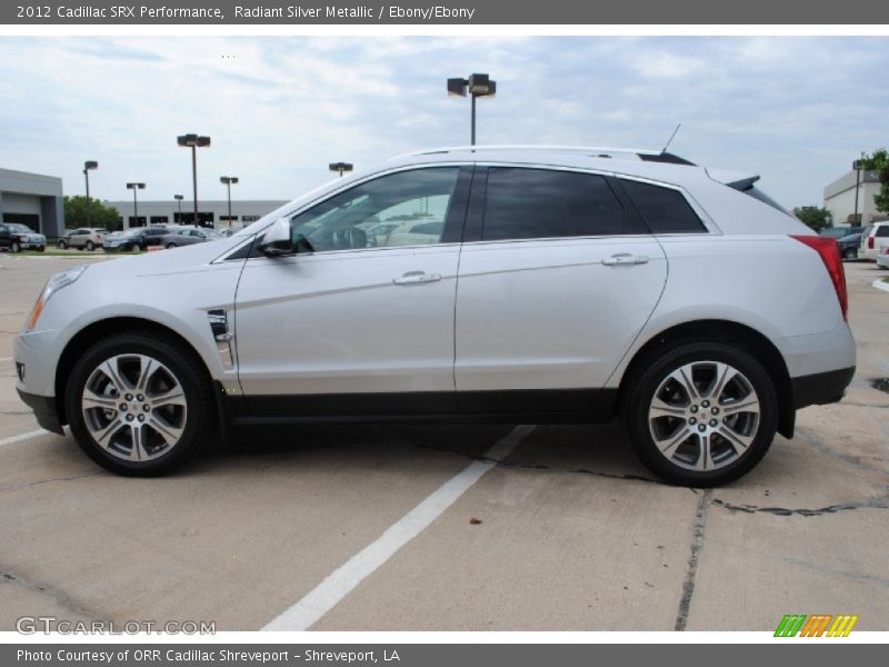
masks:
{"label": "whole front wheel of the silver SUV, tire and alloy rim", "polygon": [[158,476],[213,432],[204,369],[182,346],[138,332],[93,345],[71,371],[66,412],[80,448],[120,475]]}

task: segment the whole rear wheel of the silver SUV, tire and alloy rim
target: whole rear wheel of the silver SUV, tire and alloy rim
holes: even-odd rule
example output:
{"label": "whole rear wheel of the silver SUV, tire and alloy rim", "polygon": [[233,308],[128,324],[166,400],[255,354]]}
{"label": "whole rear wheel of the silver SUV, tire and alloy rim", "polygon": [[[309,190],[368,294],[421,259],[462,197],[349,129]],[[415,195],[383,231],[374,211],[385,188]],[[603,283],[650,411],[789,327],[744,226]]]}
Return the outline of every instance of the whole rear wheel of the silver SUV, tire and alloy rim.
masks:
{"label": "whole rear wheel of the silver SUV, tire and alloy rim", "polygon": [[775,438],[775,385],[743,349],[680,345],[648,364],[631,387],[626,418],[636,452],[671,484],[712,487],[738,479]]}

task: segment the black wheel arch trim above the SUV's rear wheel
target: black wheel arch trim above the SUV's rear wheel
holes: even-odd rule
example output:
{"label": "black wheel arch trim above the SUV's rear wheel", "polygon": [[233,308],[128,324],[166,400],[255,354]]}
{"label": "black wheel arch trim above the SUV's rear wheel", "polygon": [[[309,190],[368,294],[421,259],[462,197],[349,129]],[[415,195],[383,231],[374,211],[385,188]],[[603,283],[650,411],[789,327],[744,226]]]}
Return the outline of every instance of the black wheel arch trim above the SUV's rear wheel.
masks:
{"label": "black wheel arch trim above the SUV's rear wheel", "polygon": [[655,357],[681,342],[703,339],[738,345],[762,364],[766,372],[772,378],[775,390],[778,395],[778,432],[786,438],[792,438],[796,410],[793,408],[790,374],[781,352],[760,331],[730,320],[706,319],[682,322],[651,336],[636,351],[620,379],[616,402],[618,412],[623,412],[623,400],[629,392],[629,387]]}

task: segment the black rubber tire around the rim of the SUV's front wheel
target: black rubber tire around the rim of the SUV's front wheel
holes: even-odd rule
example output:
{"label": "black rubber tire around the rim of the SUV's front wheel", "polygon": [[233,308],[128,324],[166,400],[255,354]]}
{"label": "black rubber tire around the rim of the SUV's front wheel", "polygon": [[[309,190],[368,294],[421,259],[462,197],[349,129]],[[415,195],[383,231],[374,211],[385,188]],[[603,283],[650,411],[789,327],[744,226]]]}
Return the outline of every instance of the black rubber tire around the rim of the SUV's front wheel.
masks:
{"label": "black rubber tire around the rim of the SUV's front wheel", "polygon": [[[118,355],[146,355],[160,361],[170,370],[182,388],[187,406],[182,435],[169,450],[158,458],[144,461],[120,458],[101,447],[92,437],[87,425],[87,418],[81,410],[81,400],[87,382],[104,360]],[[146,392],[148,391],[146,390]],[[167,475],[188,461],[216,432],[212,389],[201,361],[191,350],[177,341],[138,331],[103,338],[80,357],[69,376],[64,407],[71,434],[83,452],[101,467],[118,475],[131,477]],[[124,412],[120,412],[120,415],[124,415]],[[126,424],[122,426],[127,427]]]}

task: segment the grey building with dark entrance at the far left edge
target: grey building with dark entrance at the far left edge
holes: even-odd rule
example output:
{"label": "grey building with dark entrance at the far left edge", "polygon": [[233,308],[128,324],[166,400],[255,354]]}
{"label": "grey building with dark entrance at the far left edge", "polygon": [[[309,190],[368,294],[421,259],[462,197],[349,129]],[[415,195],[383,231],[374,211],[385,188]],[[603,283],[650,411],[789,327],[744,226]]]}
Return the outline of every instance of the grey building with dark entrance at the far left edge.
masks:
{"label": "grey building with dark entrance at the far left edge", "polygon": [[62,179],[0,169],[0,220],[57,237],[64,229]]}

